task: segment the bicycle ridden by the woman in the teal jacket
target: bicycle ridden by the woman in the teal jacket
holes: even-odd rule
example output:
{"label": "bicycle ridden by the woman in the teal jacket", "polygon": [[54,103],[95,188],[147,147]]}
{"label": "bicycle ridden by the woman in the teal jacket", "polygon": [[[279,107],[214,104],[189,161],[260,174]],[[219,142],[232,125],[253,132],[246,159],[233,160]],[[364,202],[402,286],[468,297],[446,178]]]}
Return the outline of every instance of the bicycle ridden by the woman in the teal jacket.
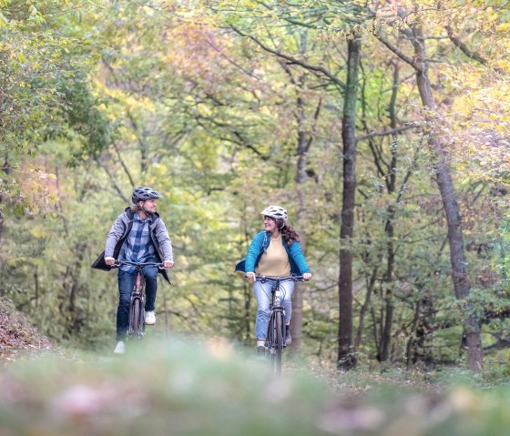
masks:
{"label": "bicycle ridden by the woman in the teal jacket", "polygon": [[[302,276],[289,276],[289,277],[265,277],[260,274],[255,275],[255,281],[265,283],[272,281],[271,297],[270,297],[270,315],[268,322],[268,332],[265,342],[265,360],[268,363],[270,370],[280,373],[281,372],[281,354],[283,349],[287,346],[285,343],[285,309],[281,305],[282,299],[280,298],[280,284],[285,281],[304,281]],[[268,296],[269,297],[269,296]],[[283,296],[285,297],[285,296]]]}

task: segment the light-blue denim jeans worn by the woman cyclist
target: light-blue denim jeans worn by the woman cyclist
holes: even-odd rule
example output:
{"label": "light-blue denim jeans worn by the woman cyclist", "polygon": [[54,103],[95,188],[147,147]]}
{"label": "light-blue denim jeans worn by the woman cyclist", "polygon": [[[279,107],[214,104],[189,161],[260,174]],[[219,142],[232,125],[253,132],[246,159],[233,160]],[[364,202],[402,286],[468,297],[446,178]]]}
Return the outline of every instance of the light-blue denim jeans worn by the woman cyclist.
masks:
{"label": "light-blue denim jeans worn by the woman cyclist", "polygon": [[[253,293],[257,299],[257,318],[255,319],[255,335],[258,340],[265,340],[268,334],[268,324],[270,319],[270,289],[274,280],[266,278],[265,283],[256,281],[253,284]],[[292,317],[292,292],[294,290],[293,281],[284,281],[280,283],[280,302],[285,309],[285,320],[289,322]]]}

